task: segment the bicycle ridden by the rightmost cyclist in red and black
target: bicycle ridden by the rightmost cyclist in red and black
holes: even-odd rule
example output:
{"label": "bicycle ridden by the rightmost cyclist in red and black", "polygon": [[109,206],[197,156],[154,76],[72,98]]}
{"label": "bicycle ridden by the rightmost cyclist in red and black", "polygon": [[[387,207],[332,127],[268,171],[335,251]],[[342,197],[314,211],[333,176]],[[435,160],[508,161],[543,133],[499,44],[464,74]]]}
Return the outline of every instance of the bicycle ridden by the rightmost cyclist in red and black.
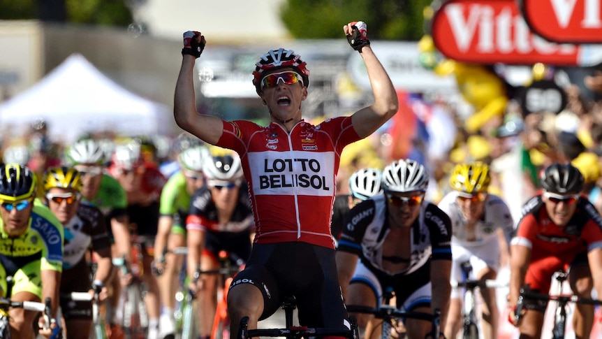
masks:
{"label": "bicycle ridden by the rightmost cyclist in red and black", "polygon": [[596,299],[589,298],[580,298],[579,296],[575,296],[573,294],[561,294],[562,291],[562,283],[567,279],[568,272],[566,271],[557,271],[554,273],[555,280],[558,283],[557,291],[555,294],[541,294],[536,291],[531,291],[525,287],[520,289],[520,295],[518,296],[518,301],[516,305],[515,311],[515,323],[519,324],[520,319],[522,317],[522,308],[524,307],[525,299],[533,299],[539,301],[555,301],[556,302],[556,310],[554,315],[554,326],[552,327],[552,338],[553,339],[563,339],[564,332],[566,329],[566,307],[568,303],[583,303],[588,305],[602,305],[602,301]]}

